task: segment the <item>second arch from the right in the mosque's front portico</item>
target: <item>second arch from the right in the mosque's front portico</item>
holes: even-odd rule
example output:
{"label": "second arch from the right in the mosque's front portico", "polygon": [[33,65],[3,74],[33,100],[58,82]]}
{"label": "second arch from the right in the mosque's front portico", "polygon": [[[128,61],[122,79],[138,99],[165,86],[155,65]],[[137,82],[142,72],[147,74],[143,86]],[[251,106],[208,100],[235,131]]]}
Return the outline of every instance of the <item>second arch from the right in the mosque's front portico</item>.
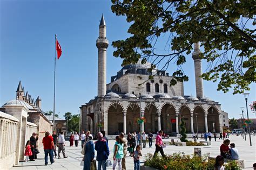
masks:
{"label": "second arch from the right in the mosque's front portico", "polygon": [[205,114],[205,109],[201,105],[197,105],[196,107],[194,107],[193,125],[195,133],[205,133]]}

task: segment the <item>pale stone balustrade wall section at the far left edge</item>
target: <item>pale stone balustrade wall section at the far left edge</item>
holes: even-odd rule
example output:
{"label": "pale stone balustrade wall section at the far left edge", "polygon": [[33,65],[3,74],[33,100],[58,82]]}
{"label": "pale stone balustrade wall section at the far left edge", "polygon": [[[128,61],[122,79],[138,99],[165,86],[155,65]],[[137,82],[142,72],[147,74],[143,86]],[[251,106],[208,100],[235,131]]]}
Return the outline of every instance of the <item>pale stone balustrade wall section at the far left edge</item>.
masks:
{"label": "pale stone balustrade wall section at the far left edge", "polygon": [[9,169],[15,164],[18,119],[0,111],[0,167]]}

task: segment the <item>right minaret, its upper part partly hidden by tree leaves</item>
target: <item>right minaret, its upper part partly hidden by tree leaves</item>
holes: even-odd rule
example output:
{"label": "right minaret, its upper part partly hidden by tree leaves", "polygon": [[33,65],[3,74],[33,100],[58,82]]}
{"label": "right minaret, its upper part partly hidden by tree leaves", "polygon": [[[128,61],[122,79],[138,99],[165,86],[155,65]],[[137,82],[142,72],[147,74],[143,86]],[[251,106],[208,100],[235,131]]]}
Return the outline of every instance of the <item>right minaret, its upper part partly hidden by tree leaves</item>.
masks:
{"label": "right minaret, its upper part partly hidden by tree leaves", "polygon": [[197,98],[203,98],[204,90],[203,90],[203,79],[199,77],[202,75],[202,66],[201,59],[199,58],[200,53],[200,44],[199,42],[194,43],[194,52],[192,53],[192,58],[194,60],[194,74],[196,76],[196,91]]}

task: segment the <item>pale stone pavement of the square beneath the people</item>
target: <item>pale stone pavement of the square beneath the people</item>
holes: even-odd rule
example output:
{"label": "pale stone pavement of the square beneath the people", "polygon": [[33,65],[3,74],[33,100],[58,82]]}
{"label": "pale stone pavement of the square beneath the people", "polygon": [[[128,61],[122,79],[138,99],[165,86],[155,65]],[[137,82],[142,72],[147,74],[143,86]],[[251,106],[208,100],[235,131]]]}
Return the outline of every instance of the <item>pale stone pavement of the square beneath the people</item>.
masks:
{"label": "pale stone pavement of the square beneath the people", "polygon": [[[241,136],[230,136],[231,143],[235,143],[235,147],[238,149],[240,154],[240,159],[245,160],[245,168],[252,169],[253,163],[256,162],[256,136],[252,136],[252,144],[253,146],[250,146],[249,143],[249,137],[248,135],[247,141],[242,139]],[[163,139],[164,141],[170,141],[169,139]],[[175,139],[177,141],[178,139]],[[219,146],[222,144],[223,140],[217,139],[217,141],[214,141],[214,138],[212,139],[212,145],[210,146],[197,146],[201,147],[202,154],[204,153],[210,153],[211,157],[216,157],[219,155]],[[81,144],[81,143],[79,143]],[[34,169],[82,169],[83,167],[80,166],[80,161],[82,160],[82,154],[80,154],[80,151],[82,150],[80,145],[79,147],[70,147],[69,142],[67,141],[67,145],[65,147],[66,149],[66,155],[69,157],[66,159],[55,159],[55,163],[52,165],[44,165],[44,153],[43,150],[40,150],[40,153],[38,154],[38,159],[36,161],[29,161],[29,162],[20,162],[18,166],[12,167],[11,170],[34,170]],[[114,140],[109,140],[109,147],[110,147],[110,158],[112,160],[113,158],[113,145]],[[154,144],[153,144],[154,145]],[[174,152],[185,152],[186,154],[192,154],[194,152],[194,146],[167,146],[164,148],[165,154],[172,154]],[[95,152],[97,153],[97,152]],[[145,155],[147,153],[154,153],[154,146],[152,148],[149,148],[149,145],[147,143],[146,148],[143,148],[142,154]],[[159,153],[160,154],[160,153]],[[62,153],[61,156],[63,157]],[[141,160],[141,165],[143,165],[144,157]],[[50,162],[50,161],[49,161]],[[127,169],[133,169],[133,160],[132,157],[126,157],[126,167]],[[112,167],[109,167],[107,169],[112,169]]]}

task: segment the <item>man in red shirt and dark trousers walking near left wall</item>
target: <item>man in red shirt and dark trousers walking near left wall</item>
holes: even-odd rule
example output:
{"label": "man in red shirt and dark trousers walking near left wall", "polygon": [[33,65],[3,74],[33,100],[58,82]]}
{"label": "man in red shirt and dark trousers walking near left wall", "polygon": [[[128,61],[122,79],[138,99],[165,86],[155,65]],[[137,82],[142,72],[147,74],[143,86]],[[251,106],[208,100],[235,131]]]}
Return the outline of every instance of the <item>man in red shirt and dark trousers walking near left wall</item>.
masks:
{"label": "man in red shirt and dark trousers walking near left wall", "polygon": [[48,154],[50,155],[50,162],[53,164],[53,150],[54,150],[54,143],[53,138],[50,136],[49,132],[45,132],[45,137],[43,138],[43,145],[44,145],[44,165],[48,165]]}

